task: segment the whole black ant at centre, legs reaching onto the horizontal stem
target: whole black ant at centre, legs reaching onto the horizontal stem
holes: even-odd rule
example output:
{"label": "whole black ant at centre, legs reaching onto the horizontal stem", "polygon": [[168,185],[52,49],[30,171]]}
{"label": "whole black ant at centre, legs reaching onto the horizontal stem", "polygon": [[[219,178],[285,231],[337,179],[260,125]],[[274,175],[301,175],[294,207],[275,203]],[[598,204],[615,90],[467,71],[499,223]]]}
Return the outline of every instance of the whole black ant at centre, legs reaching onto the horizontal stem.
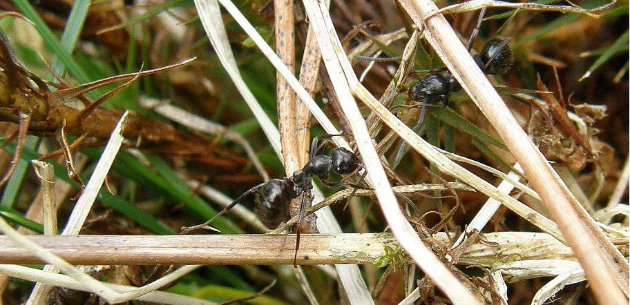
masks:
{"label": "whole black ant at centre, legs reaching onto the horizontal stem", "polygon": [[[345,135],[325,135],[323,137],[336,137]],[[254,212],[267,228],[276,228],[280,223],[286,221],[289,217],[289,203],[292,199],[298,198],[300,195],[304,195],[302,198],[302,204],[300,204],[300,214],[298,217],[296,230],[296,254],[294,256],[294,266],[296,266],[296,259],[298,254],[298,248],[300,246],[300,230],[302,219],[304,218],[306,211],[305,197],[310,196],[312,189],[313,176],[318,179],[329,188],[338,188],[345,184],[343,179],[336,183],[330,183],[328,176],[330,170],[339,175],[354,175],[363,168],[361,159],[350,150],[343,147],[333,148],[330,151],[330,156],[318,155],[320,150],[325,146],[328,141],[323,141],[322,144],[318,144],[319,137],[315,137],[311,143],[311,152],[309,155],[309,161],[305,166],[296,170],[291,177],[283,177],[282,179],[271,179],[265,183],[258,184],[245,193],[242,193],[234,201],[226,206],[223,210],[217,213],[207,222],[198,224],[196,226],[182,228],[180,234],[189,233],[192,230],[197,229],[213,229],[211,224],[217,217],[227,213],[229,209],[236,206],[239,201],[254,194],[254,201],[256,202],[256,208]],[[365,175],[361,177],[363,179]]]}

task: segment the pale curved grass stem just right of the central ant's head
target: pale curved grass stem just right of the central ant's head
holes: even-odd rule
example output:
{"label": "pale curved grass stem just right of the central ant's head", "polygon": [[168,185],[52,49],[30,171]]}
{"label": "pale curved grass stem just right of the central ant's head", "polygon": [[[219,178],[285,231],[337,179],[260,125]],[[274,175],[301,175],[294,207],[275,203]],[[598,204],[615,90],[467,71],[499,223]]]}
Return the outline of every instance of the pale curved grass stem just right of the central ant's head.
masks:
{"label": "pale curved grass stem just right of the central ant's head", "polygon": [[[394,236],[401,242],[407,253],[411,255],[420,268],[439,286],[455,303],[477,304],[478,300],[466,290],[457,278],[448,270],[439,259],[432,253],[419,239],[417,233],[407,222],[398,207],[394,193],[392,193],[390,183],[385,176],[385,171],[381,166],[379,155],[376,154],[372,145],[372,138],[367,132],[365,120],[359,112],[359,108],[350,92],[349,83],[346,77],[354,77],[354,72],[347,60],[347,55],[343,52],[341,42],[336,36],[332,20],[328,14],[324,3],[317,1],[304,1],[304,6],[313,24],[319,48],[327,68],[328,74],[334,86],[335,93],[341,101],[341,108],[350,123],[356,146],[361,153],[365,170],[367,170],[366,181],[374,188],[374,193],[379,199],[381,210],[385,214],[388,224],[392,228]],[[341,63],[345,63],[344,72]],[[346,74],[346,75],[344,75]],[[358,82],[358,80],[356,80]]]}

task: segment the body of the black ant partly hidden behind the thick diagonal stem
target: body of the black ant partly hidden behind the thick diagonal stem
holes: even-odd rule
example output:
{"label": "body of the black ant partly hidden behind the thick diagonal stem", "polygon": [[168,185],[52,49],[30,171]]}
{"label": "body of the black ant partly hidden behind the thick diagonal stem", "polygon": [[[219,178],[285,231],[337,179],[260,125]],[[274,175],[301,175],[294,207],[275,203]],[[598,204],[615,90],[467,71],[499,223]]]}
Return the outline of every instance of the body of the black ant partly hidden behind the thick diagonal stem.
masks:
{"label": "body of the black ant partly hidden behind the thick diagonal stem", "polygon": [[[473,56],[481,71],[487,75],[504,75],[514,63],[508,40],[495,38]],[[427,108],[445,108],[448,106],[448,94],[461,89],[450,72],[435,72],[419,79],[409,88],[409,99]]]}

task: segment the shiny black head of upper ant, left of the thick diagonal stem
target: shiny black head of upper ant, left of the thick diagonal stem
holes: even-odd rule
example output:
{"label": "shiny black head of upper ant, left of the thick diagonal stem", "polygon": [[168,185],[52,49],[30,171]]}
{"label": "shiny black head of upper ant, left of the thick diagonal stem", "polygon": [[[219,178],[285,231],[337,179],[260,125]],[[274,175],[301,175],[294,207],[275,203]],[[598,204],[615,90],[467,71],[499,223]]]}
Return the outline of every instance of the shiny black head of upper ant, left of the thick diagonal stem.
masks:
{"label": "shiny black head of upper ant, left of the thick diagonal stem", "polygon": [[409,88],[409,98],[423,104],[446,104],[448,92],[454,81],[448,72],[431,73]]}

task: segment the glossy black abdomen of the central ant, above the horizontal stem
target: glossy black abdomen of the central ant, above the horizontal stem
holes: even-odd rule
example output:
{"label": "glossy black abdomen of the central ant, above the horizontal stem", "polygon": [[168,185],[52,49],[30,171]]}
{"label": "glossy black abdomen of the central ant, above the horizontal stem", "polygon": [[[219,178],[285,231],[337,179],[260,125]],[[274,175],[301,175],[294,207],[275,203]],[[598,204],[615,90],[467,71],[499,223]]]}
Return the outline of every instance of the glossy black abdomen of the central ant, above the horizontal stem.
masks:
{"label": "glossy black abdomen of the central ant, above the horizontal stem", "polygon": [[271,179],[254,193],[254,212],[267,228],[276,228],[289,215],[289,203],[293,196],[292,183],[288,179]]}

